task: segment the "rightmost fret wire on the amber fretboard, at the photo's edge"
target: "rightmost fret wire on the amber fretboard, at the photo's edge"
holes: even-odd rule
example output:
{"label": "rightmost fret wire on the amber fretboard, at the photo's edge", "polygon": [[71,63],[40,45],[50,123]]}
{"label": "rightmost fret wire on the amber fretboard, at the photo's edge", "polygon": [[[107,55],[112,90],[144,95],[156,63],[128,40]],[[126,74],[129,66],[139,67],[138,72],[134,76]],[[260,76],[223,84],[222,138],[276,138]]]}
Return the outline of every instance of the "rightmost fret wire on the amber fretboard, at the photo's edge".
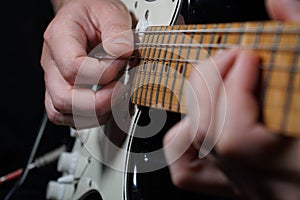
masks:
{"label": "rightmost fret wire on the amber fretboard, at the photo's edge", "polygon": [[[299,43],[300,43],[300,37],[297,37],[298,42],[296,42],[298,48],[299,48]],[[291,66],[291,71],[295,71],[297,68],[297,63],[299,60],[299,56],[297,56],[299,53],[296,54],[296,52],[293,54],[293,61],[292,61],[292,66]],[[289,76],[289,81],[287,85],[287,94],[286,94],[286,99],[285,99],[285,105],[284,105],[284,110],[283,110],[283,118],[282,118],[282,123],[281,123],[281,130],[286,130],[287,128],[287,122],[288,122],[288,117],[290,113],[290,107],[291,107],[291,97],[292,97],[292,92],[294,89],[294,79],[295,79],[295,74],[292,73]],[[283,131],[282,131],[283,133]]]}

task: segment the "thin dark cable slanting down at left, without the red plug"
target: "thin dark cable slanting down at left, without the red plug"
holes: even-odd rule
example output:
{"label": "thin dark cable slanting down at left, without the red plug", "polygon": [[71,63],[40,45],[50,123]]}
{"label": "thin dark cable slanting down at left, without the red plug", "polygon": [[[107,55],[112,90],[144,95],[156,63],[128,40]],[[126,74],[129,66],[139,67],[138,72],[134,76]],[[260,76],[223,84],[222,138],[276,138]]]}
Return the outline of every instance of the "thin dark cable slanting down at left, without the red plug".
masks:
{"label": "thin dark cable slanting down at left, without the red plug", "polygon": [[40,130],[38,132],[38,135],[35,139],[35,143],[33,145],[33,148],[31,150],[31,154],[29,156],[29,159],[28,159],[28,162],[27,162],[27,165],[26,165],[26,168],[24,169],[24,172],[22,174],[22,176],[20,177],[20,179],[18,179],[18,181],[14,184],[14,186],[11,188],[11,190],[7,193],[7,195],[5,196],[4,200],[9,200],[10,197],[13,195],[13,193],[24,183],[26,177],[27,177],[27,174],[30,170],[30,168],[28,168],[27,166],[29,166],[33,159],[34,159],[34,156],[36,154],[36,151],[37,151],[37,148],[39,146],[39,143],[41,141],[41,138],[43,136],[43,133],[45,131],[45,127],[47,125],[47,121],[48,121],[48,117],[47,117],[47,114],[46,112],[44,112],[44,115],[43,115],[43,118],[42,118],[42,124],[40,126]]}

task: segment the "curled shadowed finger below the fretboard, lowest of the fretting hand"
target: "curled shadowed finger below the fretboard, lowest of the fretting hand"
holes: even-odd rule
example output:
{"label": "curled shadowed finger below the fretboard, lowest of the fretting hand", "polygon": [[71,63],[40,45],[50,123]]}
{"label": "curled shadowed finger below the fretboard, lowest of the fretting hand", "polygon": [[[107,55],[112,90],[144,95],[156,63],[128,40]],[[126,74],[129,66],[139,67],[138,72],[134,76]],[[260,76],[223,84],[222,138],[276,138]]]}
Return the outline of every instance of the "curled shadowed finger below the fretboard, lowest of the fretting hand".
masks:
{"label": "curled shadowed finger below the fretboard, lowest of the fretting hand", "polygon": [[230,182],[215,163],[206,158],[199,159],[198,149],[187,137],[191,131],[191,120],[187,117],[164,137],[164,150],[172,182],[179,188],[195,192],[233,195]]}

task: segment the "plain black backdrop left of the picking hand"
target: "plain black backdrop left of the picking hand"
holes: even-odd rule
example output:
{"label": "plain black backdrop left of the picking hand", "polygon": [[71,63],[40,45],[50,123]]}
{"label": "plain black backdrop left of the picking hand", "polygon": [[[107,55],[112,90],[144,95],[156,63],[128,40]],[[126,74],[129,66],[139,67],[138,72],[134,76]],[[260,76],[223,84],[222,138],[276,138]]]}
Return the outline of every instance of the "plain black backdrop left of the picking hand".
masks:
{"label": "plain black backdrop left of the picking hand", "polygon": [[[43,32],[53,17],[48,0],[1,3],[0,176],[24,167],[44,112],[44,79],[40,66]],[[5,13],[5,14],[4,14]],[[48,123],[37,156],[68,140],[67,127]],[[28,174],[11,199],[45,199],[47,183],[60,174],[56,163]],[[3,199],[15,181],[0,185]]]}

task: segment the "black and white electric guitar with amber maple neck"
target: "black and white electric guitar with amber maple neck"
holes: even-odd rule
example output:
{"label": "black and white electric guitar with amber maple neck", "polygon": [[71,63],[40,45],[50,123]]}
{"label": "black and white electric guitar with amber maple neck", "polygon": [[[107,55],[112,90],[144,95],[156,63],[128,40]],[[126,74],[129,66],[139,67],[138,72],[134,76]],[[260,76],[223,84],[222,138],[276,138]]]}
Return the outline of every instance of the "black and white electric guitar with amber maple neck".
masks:
{"label": "black and white electric guitar with amber maple neck", "polygon": [[58,198],[53,188],[63,188],[60,199],[219,199],[173,186],[162,145],[164,134],[186,114],[185,80],[193,64],[218,49],[257,52],[262,122],[274,133],[300,135],[300,23],[256,19],[260,15],[253,13],[232,22],[187,24],[195,20],[197,1],[123,2],[137,22],[138,59],[129,61],[133,70],[115,93],[124,101],[113,111],[118,120],[74,133],[72,153],[59,161],[64,176],[49,183],[49,198]]}

